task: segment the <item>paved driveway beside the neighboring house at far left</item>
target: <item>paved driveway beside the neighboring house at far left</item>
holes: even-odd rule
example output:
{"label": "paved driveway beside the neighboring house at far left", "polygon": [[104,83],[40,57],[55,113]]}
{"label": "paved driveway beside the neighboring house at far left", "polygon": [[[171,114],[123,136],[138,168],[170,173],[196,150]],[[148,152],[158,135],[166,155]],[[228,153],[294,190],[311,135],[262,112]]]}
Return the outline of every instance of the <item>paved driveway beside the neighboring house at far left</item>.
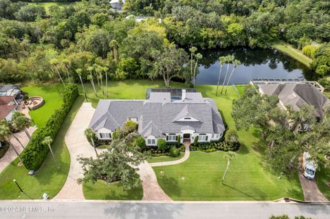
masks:
{"label": "paved driveway beside the neighboring house at far left", "polygon": [[[28,132],[30,135],[32,135],[32,133],[35,130],[36,127],[28,128]],[[21,141],[24,147],[28,145],[30,139],[28,138],[28,136],[25,134],[24,131],[17,132],[14,135],[19,139],[19,141]],[[23,148],[19,143],[19,141],[17,141],[14,137],[12,137],[12,135],[9,137],[9,139],[12,142],[12,146],[14,146],[14,148],[17,150],[17,152],[19,152],[19,154],[21,154]],[[0,159],[0,172],[2,172],[16,158],[17,158],[16,152],[12,147],[9,147],[8,151],[5,153],[5,156],[1,157]]]}

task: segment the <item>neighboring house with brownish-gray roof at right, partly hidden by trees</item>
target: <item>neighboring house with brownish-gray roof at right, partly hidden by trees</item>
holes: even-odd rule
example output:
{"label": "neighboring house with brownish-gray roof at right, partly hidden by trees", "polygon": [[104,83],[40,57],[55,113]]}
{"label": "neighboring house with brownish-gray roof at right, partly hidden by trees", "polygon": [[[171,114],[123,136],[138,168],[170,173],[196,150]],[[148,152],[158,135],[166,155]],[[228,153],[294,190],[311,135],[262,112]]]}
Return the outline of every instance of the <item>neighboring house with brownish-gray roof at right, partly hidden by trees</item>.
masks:
{"label": "neighboring house with brownish-gray roof at right, partly hidden by trees", "polygon": [[[259,92],[268,95],[276,95],[280,100],[278,107],[286,109],[291,105],[298,111],[304,104],[314,106],[314,115],[322,119],[325,108],[330,107],[330,100],[319,89],[309,83],[278,83],[259,84]],[[307,130],[308,125],[296,127],[295,130]]]}

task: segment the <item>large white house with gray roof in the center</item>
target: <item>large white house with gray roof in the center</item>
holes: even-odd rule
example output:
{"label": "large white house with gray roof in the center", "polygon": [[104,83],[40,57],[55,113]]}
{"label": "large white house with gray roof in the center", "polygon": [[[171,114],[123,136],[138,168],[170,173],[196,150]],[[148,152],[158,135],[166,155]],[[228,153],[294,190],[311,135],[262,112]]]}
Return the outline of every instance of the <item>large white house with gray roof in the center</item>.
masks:
{"label": "large white house with gray roof in the center", "polygon": [[137,122],[147,146],[167,142],[219,140],[225,126],[217,105],[195,89],[148,89],[146,100],[100,100],[89,127],[98,139],[111,140],[126,121]]}

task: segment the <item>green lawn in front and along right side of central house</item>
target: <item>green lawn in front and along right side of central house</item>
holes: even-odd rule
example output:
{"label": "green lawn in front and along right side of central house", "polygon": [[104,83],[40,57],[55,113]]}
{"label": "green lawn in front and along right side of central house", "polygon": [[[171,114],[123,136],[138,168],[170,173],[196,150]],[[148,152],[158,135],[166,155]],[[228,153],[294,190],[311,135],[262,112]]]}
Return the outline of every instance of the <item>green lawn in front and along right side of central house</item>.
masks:
{"label": "green lawn in front and along right side of central house", "polygon": [[[234,127],[230,115],[236,93],[228,87],[226,95],[215,97],[216,86],[199,85],[204,97],[211,97],[229,128]],[[265,143],[257,130],[240,131],[241,149],[221,184],[225,170],[225,152],[191,152],[184,163],[155,167],[159,185],[173,200],[274,200],[291,197],[303,200],[298,175],[292,181],[278,178],[264,161]]]}

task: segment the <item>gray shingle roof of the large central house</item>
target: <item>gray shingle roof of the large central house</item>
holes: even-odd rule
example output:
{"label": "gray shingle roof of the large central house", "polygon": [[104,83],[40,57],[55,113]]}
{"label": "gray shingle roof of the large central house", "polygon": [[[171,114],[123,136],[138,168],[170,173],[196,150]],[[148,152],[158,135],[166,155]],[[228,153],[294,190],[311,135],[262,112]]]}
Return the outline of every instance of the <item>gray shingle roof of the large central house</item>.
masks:
{"label": "gray shingle roof of the large central house", "polygon": [[[166,97],[162,93],[157,93],[154,97],[157,96]],[[95,131],[102,127],[113,131],[122,126],[128,117],[137,117],[138,132],[144,137],[164,137],[164,133],[178,133],[184,127],[197,133],[222,133],[225,130],[215,102],[202,98],[200,93],[194,93],[192,99],[195,102],[168,102],[168,98],[159,98],[157,102],[154,97],[151,98],[153,100],[100,100],[89,127]],[[185,116],[193,117],[198,122],[177,121]]]}

